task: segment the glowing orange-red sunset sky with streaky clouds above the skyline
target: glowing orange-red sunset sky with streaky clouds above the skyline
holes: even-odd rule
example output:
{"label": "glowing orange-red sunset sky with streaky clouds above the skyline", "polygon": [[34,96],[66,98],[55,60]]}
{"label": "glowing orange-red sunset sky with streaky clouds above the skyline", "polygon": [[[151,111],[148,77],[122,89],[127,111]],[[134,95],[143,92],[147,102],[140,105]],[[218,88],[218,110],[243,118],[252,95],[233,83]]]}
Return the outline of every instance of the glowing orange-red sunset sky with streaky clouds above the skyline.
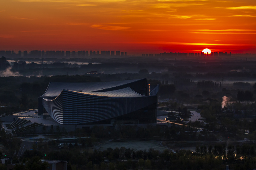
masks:
{"label": "glowing orange-red sunset sky with streaky clouds above the skyline", "polygon": [[0,50],[256,53],[256,0],[1,0]]}

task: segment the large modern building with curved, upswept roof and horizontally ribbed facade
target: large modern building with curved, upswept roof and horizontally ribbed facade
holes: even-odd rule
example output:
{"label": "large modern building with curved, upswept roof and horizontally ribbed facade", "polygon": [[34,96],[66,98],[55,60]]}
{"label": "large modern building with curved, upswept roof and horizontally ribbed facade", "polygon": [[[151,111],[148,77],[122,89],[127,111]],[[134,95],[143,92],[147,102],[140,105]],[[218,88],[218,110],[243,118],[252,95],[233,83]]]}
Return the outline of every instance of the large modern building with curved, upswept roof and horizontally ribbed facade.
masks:
{"label": "large modern building with curved, upswept roof and horizontally ribbed facade", "polygon": [[63,125],[156,123],[158,86],[146,79],[93,83],[50,82],[38,98],[46,112]]}

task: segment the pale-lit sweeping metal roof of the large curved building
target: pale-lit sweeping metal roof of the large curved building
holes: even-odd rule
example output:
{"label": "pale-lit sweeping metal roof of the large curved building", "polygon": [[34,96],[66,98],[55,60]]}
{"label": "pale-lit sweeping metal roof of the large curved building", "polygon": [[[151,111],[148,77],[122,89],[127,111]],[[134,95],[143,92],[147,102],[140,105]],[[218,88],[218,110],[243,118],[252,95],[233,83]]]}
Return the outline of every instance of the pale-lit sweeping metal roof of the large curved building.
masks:
{"label": "pale-lit sweeping metal roof of the large curved building", "polygon": [[[124,90],[120,89],[118,92],[113,92],[111,94],[111,91],[107,92],[93,92],[93,91],[99,91],[103,89],[109,89],[121,85],[125,85],[128,83],[132,83],[135,81],[139,81],[142,79],[135,79],[135,80],[123,80],[123,81],[111,81],[111,82],[90,82],[90,83],[62,83],[62,82],[50,82],[48,85],[48,88],[46,89],[45,93],[40,98],[52,98],[57,97],[63,90],[69,90],[69,91],[76,91],[76,92],[83,92],[83,93],[90,93],[90,95],[99,95],[99,96],[107,96],[109,97],[117,97],[120,94],[124,95],[125,91],[128,92],[128,96],[134,95],[134,97],[139,97],[138,93],[131,90]],[[133,91],[133,92],[131,92]],[[136,93],[136,94],[135,94]],[[137,96],[136,96],[137,95]],[[143,95],[140,95],[142,97]],[[123,96],[124,97],[124,96]]]}

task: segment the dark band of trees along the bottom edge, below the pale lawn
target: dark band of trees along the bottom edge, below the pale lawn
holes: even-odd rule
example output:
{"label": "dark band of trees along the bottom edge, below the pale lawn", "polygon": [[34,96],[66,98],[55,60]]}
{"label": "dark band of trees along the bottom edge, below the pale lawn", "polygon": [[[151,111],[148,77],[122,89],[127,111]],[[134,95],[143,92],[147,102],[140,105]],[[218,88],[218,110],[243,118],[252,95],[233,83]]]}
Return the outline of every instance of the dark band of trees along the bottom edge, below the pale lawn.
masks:
{"label": "dark band of trees along the bottom edge, below the pale lawn", "polygon": [[[104,151],[83,150],[78,146],[45,154],[26,151],[23,162],[17,164],[18,169],[43,169],[45,163],[40,159],[68,161],[68,169],[253,169],[256,167],[254,144],[232,145],[218,143],[214,146],[202,145],[196,152],[179,150],[162,152],[149,148],[148,150],[134,150],[131,148],[107,148]],[[89,151],[89,152],[88,152]],[[39,156],[36,156],[39,155]]]}

